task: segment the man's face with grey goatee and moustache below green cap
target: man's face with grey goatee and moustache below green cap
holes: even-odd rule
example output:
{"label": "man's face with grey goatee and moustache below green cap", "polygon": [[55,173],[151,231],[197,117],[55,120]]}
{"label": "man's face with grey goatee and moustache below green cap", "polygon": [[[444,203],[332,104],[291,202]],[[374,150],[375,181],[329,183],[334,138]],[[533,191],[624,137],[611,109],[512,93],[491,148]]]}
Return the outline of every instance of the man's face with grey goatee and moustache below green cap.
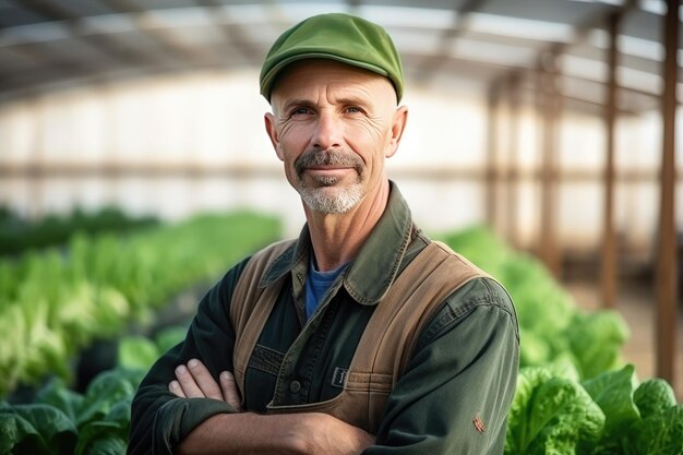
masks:
{"label": "man's face with grey goatee and moustache below green cap", "polygon": [[278,79],[271,104],[268,135],[287,180],[310,209],[346,213],[378,191],[406,118],[386,77],[331,60],[303,60]]}

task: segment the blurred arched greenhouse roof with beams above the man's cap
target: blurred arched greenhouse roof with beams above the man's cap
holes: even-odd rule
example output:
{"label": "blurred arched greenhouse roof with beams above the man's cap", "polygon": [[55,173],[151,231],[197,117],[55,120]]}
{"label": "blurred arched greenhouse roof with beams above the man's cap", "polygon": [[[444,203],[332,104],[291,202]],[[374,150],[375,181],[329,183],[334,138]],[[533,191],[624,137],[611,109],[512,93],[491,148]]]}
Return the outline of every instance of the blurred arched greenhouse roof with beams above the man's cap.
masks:
{"label": "blurred arched greenhouse roof with beams above the man's cap", "polygon": [[616,23],[618,108],[659,106],[660,0],[1,0],[0,103],[163,73],[257,69],[280,32],[327,11],[384,25],[410,84],[487,95],[520,81],[534,93],[537,70],[556,68],[565,106],[594,111],[606,98]]}

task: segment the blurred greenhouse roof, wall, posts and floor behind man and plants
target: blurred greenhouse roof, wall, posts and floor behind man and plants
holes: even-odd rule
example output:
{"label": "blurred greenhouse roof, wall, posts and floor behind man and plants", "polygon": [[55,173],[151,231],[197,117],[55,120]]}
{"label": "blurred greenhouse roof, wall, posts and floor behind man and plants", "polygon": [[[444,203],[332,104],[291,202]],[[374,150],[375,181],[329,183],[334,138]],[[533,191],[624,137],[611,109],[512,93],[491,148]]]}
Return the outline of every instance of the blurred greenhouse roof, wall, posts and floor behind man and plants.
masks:
{"label": "blurred greenhouse roof, wall, posts and floor behind man and plants", "polygon": [[681,397],[680,10],[0,0],[0,205],[14,226],[112,206],[163,223],[248,208],[296,236],[300,201],[257,75],[284,29],[350,12],[385,26],[405,65],[408,130],[387,166],[417,223],[434,236],[486,226],[538,258],[579,307],[620,312],[626,359]]}

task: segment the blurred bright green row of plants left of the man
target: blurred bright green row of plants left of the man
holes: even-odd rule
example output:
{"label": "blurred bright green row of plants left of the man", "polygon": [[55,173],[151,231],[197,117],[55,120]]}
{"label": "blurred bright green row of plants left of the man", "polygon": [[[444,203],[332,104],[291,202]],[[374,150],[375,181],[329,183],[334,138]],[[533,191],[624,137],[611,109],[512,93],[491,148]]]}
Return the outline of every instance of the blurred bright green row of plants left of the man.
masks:
{"label": "blurred bright green row of plants left of the man", "polygon": [[76,236],[51,249],[0,261],[0,397],[55,374],[94,339],[125,333],[196,283],[216,280],[239,259],[278,239],[280,225],[249,212],[202,215],[135,235]]}

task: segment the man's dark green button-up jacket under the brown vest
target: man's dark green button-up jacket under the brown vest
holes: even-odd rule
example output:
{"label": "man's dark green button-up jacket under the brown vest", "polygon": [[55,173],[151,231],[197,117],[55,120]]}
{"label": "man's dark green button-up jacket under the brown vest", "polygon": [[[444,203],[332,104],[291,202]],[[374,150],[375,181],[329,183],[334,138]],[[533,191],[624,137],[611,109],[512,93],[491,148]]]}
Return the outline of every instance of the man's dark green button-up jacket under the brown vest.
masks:
{"label": "man's dark green button-up jacket under the brown vest", "polygon": [[[412,224],[392,184],[390,202],[367,243],[307,323],[304,279],[310,238],[303,228],[263,279],[288,275],[245,375],[244,408],[263,412],[271,402],[297,405],[329,399],[342,391],[339,372],[350,364],[375,306],[393,279],[430,240]],[[232,370],[232,289],[247,260],[230,270],[200,302],[188,337],[152,368],[133,400],[129,454],[170,454],[223,402],[177,398],[168,392],[173,369],[192,358],[215,378]],[[506,417],[518,369],[518,328],[512,301],[496,282],[477,278],[441,306],[416,345],[390,395],[376,445],[364,454],[502,454]]]}

